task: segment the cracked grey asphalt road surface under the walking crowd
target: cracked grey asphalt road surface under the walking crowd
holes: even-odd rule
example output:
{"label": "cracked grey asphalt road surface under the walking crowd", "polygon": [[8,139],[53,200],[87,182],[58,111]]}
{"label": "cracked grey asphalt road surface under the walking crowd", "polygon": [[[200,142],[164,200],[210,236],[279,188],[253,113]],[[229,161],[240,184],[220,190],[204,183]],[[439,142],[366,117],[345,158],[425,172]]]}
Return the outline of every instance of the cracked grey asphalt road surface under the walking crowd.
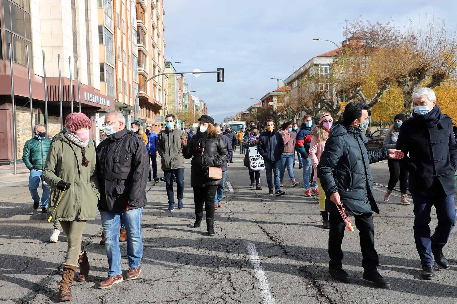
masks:
{"label": "cracked grey asphalt road surface under the walking crowd", "polygon": [[[412,205],[399,204],[396,196],[384,203],[387,163],[372,164],[372,171],[381,210],[381,215],[374,216],[379,271],[390,279],[390,289],[376,288],[361,278],[357,230],[345,231],[343,242],[343,267],[353,282],[339,283],[329,277],[328,230],[321,228],[318,198],[303,196],[298,164],[295,175],[300,185],[290,188],[286,173],[286,195],[267,196],[265,173],[260,175],[263,190],[249,189],[248,171],[235,152],[227,173],[234,192],[226,187],[224,207],[215,215],[215,236],[206,236],[204,220],[200,228],[193,228],[187,163],[183,210],[167,212],[165,183],[148,183],[142,273],[137,280],[97,289],[108,272],[105,248],[99,245],[100,215],[87,223],[83,242],[91,270],[87,282],[73,284],[71,303],[457,303],[457,230],[444,250],[451,268],[436,267],[434,280],[422,280]],[[58,302],[64,233],[57,243],[48,242],[52,224],[41,210],[33,210],[26,181],[2,183],[0,193],[0,303]],[[431,229],[436,225],[432,213]],[[248,252],[249,243],[258,254],[255,262]],[[125,243],[121,252],[127,271]],[[262,269],[267,281],[259,282]],[[274,298],[265,298],[268,288]]]}

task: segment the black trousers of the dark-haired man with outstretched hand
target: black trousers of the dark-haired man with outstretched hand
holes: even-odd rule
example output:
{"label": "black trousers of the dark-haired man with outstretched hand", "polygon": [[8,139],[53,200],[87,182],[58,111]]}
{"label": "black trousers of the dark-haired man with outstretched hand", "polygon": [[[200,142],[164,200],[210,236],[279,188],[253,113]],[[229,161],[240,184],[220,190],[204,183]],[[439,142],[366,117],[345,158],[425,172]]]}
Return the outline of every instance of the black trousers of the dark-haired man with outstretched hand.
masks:
{"label": "black trousers of the dark-haired man with outstretched hand", "polygon": [[[360,249],[362,252],[362,267],[365,270],[374,270],[379,266],[379,257],[374,249],[374,223],[373,215],[356,215],[356,227],[359,231]],[[342,266],[343,251],[341,243],[344,237],[346,225],[340,214],[330,214],[330,231],[329,231],[329,267]],[[354,232],[354,231],[352,231]],[[350,232],[351,233],[351,232]]]}

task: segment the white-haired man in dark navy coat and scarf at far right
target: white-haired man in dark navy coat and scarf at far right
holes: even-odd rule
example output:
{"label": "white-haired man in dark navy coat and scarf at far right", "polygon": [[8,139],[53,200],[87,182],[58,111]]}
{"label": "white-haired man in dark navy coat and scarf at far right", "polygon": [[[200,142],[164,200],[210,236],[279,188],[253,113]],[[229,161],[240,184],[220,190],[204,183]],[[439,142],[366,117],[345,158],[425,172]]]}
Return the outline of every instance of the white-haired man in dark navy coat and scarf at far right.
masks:
{"label": "white-haired man in dark navy coat and scarf at far right", "polygon": [[[457,169],[457,144],[452,120],[442,114],[435,92],[421,88],[413,93],[414,113],[404,121],[397,149],[409,157],[400,160],[409,171],[409,192],[414,202],[414,241],[422,264],[422,278],[435,277],[436,263],[449,269],[443,247],[456,222],[454,173]],[[435,206],[438,225],[430,236],[430,210]]]}

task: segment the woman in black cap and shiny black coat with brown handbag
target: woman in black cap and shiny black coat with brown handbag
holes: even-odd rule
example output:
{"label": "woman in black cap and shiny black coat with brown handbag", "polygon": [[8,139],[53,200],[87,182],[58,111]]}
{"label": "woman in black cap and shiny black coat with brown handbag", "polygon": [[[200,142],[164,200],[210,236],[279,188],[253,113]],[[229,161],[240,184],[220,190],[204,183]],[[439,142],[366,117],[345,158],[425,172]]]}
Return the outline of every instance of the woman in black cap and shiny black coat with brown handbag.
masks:
{"label": "woman in black cap and shiny black coat with brown handbag", "polygon": [[208,236],[214,235],[214,197],[222,179],[207,178],[209,167],[221,167],[228,157],[227,147],[222,138],[214,129],[214,120],[211,116],[202,115],[198,119],[197,134],[187,142],[183,139],[183,155],[192,158],[191,187],[194,189],[195,223],[200,227],[203,219],[203,202],[206,209],[206,226]]}

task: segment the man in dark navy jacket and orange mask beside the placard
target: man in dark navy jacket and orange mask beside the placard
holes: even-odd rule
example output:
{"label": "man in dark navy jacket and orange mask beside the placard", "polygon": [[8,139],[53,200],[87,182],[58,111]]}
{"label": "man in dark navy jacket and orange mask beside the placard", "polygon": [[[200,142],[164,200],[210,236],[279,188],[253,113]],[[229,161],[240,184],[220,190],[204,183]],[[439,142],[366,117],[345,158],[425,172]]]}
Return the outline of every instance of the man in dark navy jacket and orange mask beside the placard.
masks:
{"label": "man in dark navy jacket and orange mask beside the placard", "polygon": [[[282,152],[284,152],[284,141],[282,140],[281,134],[275,130],[275,123],[272,119],[268,119],[266,121],[266,130],[267,131],[263,132],[259,137],[257,149],[265,162],[268,195],[281,196],[286,194],[281,190],[281,186],[279,184],[281,155]],[[271,178],[272,173],[275,178],[275,193],[273,193],[273,180]]]}

